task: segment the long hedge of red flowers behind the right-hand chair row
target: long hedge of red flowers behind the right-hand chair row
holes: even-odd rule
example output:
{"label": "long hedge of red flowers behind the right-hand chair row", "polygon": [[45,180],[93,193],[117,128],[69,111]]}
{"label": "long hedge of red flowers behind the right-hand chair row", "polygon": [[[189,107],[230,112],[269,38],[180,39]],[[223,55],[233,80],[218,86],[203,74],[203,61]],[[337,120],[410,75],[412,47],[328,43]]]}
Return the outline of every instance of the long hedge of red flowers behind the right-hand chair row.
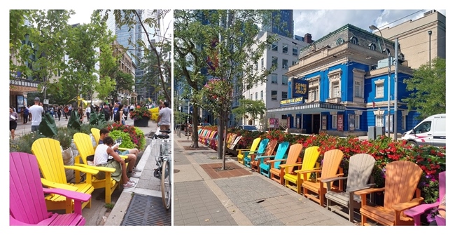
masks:
{"label": "long hedge of red flowers behind the right-hand chair row", "polygon": [[[412,161],[420,166],[423,170],[419,189],[425,203],[433,203],[438,198],[439,173],[446,170],[445,156],[446,148],[433,146],[412,147],[406,145],[405,141],[393,141],[386,135],[381,135],[377,140],[359,140],[358,137],[337,137],[327,133],[319,135],[290,135],[280,130],[272,130],[268,133],[239,133],[238,130],[228,130],[236,132],[244,137],[239,142],[242,148],[251,146],[255,137],[269,138],[269,140],[278,140],[279,142],[288,141],[291,145],[295,142],[303,145],[304,149],[311,146],[318,146],[321,149],[321,155],[318,163],[322,164],[324,153],[331,149],[339,149],[344,153],[344,159],[341,167],[347,174],[349,167],[349,157],[354,154],[370,154],[376,159],[372,171],[372,180],[377,187],[384,187],[385,171],[387,163],[392,161]],[[300,154],[302,156],[302,154]]]}

